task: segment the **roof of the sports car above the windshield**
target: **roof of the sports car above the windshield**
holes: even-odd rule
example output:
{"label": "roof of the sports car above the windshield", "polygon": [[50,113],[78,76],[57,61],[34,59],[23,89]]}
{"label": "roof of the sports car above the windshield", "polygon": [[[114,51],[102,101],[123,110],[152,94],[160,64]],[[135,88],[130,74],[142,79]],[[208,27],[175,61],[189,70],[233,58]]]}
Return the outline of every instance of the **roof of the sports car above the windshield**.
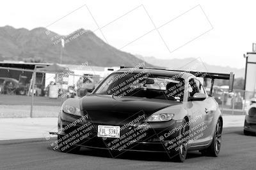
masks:
{"label": "roof of the sports car above the windshield", "polygon": [[187,80],[189,76],[195,77],[191,73],[186,73],[184,71],[170,71],[168,69],[146,69],[146,68],[140,68],[140,69],[134,69],[134,68],[124,68],[119,69],[116,71],[116,73],[124,73],[124,72],[132,72],[132,73],[141,73],[141,71],[147,71],[151,74],[157,74],[159,76],[168,76],[168,77],[177,77],[177,78],[184,78],[184,80]]}

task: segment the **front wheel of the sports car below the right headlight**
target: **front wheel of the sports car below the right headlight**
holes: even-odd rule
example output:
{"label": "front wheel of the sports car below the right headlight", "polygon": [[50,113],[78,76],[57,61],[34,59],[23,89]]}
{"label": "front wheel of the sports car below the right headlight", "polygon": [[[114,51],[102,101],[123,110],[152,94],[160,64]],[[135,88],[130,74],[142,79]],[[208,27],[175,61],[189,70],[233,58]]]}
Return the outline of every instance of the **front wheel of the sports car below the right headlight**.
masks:
{"label": "front wheel of the sports car below the right headlight", "polygon": [[[189,126],[187,125],[187,121],[184,119],[182,121],[182,129],[179,131],[179,135],[180,134],[185,134],[185,132],[187,132],[189,130]],[[175,151],[175,157],[173,157],[173,160],[175,162],[184,162],[186,160],[186,156],[188,153],[188,140],[186,139],[186,137],[188,136],[188,134],[186,135],[182,135],[182,138],[180,138],[180,141],[182,141],[179,144],[179,150]]]}

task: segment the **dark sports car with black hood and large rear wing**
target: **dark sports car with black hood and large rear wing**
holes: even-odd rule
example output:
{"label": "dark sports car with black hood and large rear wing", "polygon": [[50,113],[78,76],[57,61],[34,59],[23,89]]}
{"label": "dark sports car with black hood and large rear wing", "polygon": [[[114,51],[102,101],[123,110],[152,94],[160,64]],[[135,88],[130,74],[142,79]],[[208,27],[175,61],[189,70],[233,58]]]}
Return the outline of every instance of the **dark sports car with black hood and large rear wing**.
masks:
{"label": "dark sports car with black hood and large rear wing", "polygon": [[166,152],[180,162],[189,150],[218,156],[223,119],[218,103],[196,76],[234,78],[149,68],[110,74],[89,96],[63,103],[55,148],[106,149],[113,157],[128,150]]}

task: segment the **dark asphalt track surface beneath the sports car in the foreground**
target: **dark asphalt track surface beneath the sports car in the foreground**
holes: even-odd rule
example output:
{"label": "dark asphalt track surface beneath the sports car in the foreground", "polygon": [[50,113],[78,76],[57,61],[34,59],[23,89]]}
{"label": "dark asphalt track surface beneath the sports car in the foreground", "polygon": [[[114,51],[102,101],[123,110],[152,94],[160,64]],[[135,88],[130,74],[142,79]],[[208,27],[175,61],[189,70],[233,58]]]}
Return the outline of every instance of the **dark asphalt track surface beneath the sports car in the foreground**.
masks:
{"label": "dark asphalt track surface beneath the sports car in the foreground", "polygon": [[190,152],[184,163],[166,153],[125,152],[116,159],[108,151],[87,148],[61,153],[50,142],[0,141],[0,169],[256,169],[256,136],[244,136],[242,127],[224,129],[219,157]]}

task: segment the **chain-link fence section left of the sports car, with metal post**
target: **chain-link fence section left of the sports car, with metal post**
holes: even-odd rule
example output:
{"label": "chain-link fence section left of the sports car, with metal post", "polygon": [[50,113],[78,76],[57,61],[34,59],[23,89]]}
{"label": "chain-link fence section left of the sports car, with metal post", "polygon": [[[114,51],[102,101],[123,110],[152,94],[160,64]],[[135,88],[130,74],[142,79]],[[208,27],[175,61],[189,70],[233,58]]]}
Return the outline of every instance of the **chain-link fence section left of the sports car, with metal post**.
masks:
{"label": "chain-link fence section left of the sports car, with metal post", "polygon": [[[70,87],[75,87],[75,92],[81,97],[91,92],[102,80],[99,75],[87,74],[86,77],[88,81],[83,82],[84,75],[60,76],[35,73],[28,69],[1,67],[0,118],[58,117],[61,104],[70,97],[67,95]],[[48,85],[49,82],[51,85]],[[56,97],[49,96],[51,86],[55,86],[52,89],[55,90]],[[87,89],[86,92],[83,88]]]}

